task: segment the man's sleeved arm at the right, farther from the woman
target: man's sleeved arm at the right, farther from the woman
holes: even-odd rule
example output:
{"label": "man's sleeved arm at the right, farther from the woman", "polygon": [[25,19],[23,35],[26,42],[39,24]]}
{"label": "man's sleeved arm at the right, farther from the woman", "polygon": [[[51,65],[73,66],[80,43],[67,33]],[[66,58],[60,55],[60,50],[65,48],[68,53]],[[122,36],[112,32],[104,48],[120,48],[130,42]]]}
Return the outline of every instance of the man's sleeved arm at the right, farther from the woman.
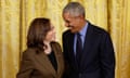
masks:
{"label": "man's sleeved arm at the right, farther from the woman", "polygon": [[115,53],[110,36],[106,32],[102,36],[101,67],[102,78],[115,78]]}

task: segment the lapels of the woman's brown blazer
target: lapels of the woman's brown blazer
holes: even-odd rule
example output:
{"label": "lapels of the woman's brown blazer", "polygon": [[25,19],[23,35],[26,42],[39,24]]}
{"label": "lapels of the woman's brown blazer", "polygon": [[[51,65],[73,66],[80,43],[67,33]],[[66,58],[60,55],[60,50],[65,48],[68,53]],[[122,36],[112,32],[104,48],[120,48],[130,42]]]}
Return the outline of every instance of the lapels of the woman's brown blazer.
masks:
{"label": "lapels of the woman's brown blazer", "polygon": [[60,73],[60,54],[57,52],[57,49],[51,44],[52,47],[52,50],[54,51],[54,54],[55,54],[55,58],[56,58],[56,62],[57,62],[57,72],[54,69],[54,67],[52,66],[48,55],[44,53],[44,52],[39,52],[39,54],[35,55],[37,62],[39,63],[39,65],[41,65],[41,67],[43,67],[42,69],[47,68],[47,70],[49,70],[53,76],[56,76],[56,74]]}

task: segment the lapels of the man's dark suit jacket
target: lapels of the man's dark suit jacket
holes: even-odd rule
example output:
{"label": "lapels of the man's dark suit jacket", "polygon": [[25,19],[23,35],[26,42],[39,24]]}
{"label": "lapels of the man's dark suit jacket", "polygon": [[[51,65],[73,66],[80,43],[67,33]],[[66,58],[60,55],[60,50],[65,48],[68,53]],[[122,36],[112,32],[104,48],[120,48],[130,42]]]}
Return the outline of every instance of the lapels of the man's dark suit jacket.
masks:
{"label": "lapels of the man's dark suit jacket", "polygon": [[[81,61],[80,61],[80,68],[82,69],[83,64],[86,62],[86,55],[89,52],[89,49],[91,49],[91,41],[92,41],[92,34],[93,34],[93,26],[88,22],[88,29],[86,31],[86,37],[84,37],[84,44],[83,44],[83,50],[82,50],[82,56],[81,56]],[[69,35],[69,39],[70,39],[70,57],[73,60],[74,67],[75,69],[78,69],[78,67],[76,66],[76,61],[75,61],[75,54],[74,54],[74,34],[70,32]]]}

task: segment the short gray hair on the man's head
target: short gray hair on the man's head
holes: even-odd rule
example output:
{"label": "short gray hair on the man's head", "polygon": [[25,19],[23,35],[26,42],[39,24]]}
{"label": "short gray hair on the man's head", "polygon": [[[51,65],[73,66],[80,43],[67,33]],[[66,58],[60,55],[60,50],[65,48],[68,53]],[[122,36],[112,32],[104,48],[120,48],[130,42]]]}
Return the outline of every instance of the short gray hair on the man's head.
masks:
{"label": "short gray hair on the man's head", "polygon": [[70,13],[72,16],[78,16],[86,14],[84,8],[79,2],[69,2],[64,9],[64,13]]}

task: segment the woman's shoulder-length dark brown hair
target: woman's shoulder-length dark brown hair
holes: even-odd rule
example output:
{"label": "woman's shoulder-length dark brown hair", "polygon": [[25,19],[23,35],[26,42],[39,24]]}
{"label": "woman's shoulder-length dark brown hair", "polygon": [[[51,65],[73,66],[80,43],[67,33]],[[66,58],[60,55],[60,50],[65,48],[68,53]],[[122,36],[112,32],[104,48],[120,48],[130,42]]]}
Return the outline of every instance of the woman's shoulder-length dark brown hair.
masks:
{"label": "woman's shoulder-length dark brown hair", "polygon": [[28,29],[27,48],[39,48],[43,50],[43,40],[50,29],[51,24],[49,18],[35,18]]}

